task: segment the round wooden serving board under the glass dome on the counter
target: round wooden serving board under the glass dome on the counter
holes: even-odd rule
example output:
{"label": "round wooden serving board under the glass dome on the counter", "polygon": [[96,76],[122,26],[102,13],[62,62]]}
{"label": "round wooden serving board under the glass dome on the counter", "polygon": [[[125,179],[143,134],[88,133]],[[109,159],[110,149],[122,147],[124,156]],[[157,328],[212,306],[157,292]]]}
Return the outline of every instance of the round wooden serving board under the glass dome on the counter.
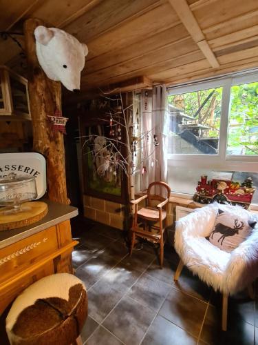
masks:
{"label": "round wooden serving board under the glass dome on the counter", "polygon": [[10,212],[9,208],[0,209],[0,231],[21,228],[39,221],[47,214],[47,204],[43,201],[28,201],[21,204],[17,212]]}

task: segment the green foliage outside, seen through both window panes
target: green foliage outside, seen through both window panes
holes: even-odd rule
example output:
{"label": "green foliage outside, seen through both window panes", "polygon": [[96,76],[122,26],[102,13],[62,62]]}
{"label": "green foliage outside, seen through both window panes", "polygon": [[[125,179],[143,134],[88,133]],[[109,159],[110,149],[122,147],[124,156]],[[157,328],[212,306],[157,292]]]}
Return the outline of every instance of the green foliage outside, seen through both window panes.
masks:
{"label": "green foliage outside, seen through both window panes", "polygon": [[[222,88],[169,96],[169,103],[208,126],[207,137],[219,137]],[[258,82],[232,86],[228,119],[228,155],[258,155]]]}

